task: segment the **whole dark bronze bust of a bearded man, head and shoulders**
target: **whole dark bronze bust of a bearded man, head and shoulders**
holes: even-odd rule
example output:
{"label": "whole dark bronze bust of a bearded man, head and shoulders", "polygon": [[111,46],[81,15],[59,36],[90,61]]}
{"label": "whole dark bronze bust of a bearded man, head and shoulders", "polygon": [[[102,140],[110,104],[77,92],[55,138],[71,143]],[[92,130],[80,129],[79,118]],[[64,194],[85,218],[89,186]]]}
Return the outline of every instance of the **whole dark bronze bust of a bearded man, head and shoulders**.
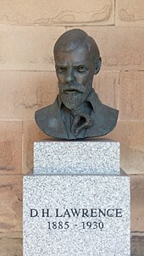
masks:
{"label": "whole dark bronze bust of a bearded man, head and shoulders", "polygon": [[93,38],[79,29],[65,32],[55,43],[54,59],[59,93],[52,105],[36,111],[40,129],[67,140],[112,131],[119,111],[102,104],[92,88],[102,63]]}

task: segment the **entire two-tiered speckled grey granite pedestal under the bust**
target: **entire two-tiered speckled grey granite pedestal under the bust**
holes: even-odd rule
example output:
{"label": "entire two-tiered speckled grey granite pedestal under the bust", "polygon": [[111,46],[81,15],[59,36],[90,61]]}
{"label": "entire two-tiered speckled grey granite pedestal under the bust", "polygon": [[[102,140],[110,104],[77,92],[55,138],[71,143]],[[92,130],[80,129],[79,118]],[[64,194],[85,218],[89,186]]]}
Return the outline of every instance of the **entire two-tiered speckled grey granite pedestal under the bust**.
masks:
{"label": "entire two-tiered speckled grey granite pedestal under the bust", "polygon": [[34,154],[35,175],[24,177],[24,256],[130,256],[119,143],[37,142]]}

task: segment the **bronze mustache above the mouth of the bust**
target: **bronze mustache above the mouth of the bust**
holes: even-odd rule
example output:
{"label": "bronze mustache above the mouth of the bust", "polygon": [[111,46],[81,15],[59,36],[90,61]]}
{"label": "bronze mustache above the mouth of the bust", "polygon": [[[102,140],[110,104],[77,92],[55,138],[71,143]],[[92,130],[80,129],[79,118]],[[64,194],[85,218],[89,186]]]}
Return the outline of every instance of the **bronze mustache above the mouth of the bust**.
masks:
{"label": "bronze mustache above the mouth of the bust", "polygon": [[69,85],[60,84],[58,85],[59,90],[66,92],[66,91],[76,91],[76,92],[86,92],[86,87],[81,86],[79,83],[71,83]]}

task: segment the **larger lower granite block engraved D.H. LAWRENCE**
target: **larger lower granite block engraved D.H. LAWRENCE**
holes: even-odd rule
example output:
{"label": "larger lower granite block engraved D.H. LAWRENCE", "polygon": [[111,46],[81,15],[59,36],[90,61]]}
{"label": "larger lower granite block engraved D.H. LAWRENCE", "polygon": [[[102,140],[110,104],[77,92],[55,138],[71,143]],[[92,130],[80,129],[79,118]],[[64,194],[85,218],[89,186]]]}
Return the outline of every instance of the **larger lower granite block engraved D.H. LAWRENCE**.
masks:
{"label": "larger lower granite block engraved D.H. LAWRENCE", "polygon": [[130,179],[24,177],[25,256],[130,256]]}

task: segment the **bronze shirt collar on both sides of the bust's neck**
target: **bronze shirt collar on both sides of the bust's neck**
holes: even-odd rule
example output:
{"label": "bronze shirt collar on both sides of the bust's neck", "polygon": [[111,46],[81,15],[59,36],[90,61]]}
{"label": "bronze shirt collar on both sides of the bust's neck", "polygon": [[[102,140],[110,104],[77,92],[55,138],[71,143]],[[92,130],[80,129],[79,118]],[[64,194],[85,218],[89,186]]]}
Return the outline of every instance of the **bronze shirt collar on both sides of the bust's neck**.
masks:
{"label": "bronze shirt collar on both sides of the bust's neck", "polygon": [[[97,102],[101,103],[101,101],[99,100],[97,93],[95,92],[95,90],[93,88],[92,88],[90,94],[88,95],[88,97],[86,98],[86,102],[91,103],[91,106],[92,106],[92,109],[94,112],[97,111]],[[58,107],[59,107],[59,109],[61,109],[61,107],[62,107],[62,100],[59,97],[59,95],[58,95]]]}

